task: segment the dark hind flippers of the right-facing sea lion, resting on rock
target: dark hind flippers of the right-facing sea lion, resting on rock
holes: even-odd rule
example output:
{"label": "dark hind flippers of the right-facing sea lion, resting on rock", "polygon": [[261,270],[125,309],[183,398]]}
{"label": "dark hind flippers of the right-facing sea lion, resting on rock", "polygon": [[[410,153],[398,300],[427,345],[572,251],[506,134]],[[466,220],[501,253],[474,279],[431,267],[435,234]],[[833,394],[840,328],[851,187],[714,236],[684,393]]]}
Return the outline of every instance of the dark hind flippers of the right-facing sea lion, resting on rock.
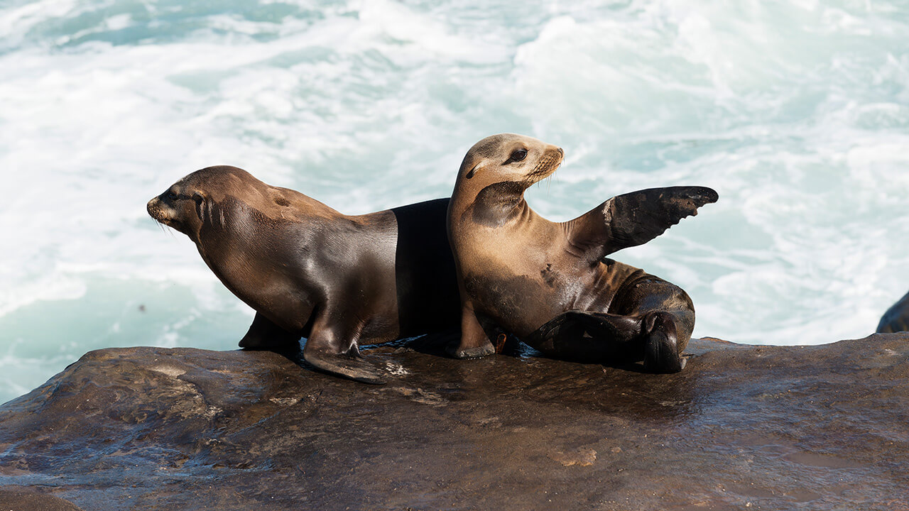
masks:
{"label": "dark hind flippers of the right-facing sea lion, resting on rock", "polygon": [[664,311],[634,316],[568,311],[522,340],[556,358],[607,364],[644,360],[649,372],[677,373],[684,360],[674,321]]}

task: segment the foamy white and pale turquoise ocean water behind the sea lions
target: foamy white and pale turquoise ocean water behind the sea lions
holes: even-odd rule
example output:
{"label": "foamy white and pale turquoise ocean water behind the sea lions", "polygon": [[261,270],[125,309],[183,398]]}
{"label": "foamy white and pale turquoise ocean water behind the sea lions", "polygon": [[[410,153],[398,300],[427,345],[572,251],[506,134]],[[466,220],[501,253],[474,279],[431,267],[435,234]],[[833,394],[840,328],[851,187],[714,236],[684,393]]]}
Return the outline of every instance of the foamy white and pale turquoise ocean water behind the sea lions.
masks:
{"label": "foamy white and pale turquoise ocean water behind the sea lions", "polygon": [[[186,5],[185,5],[186,4]],[[865,336],[909,289],[909,2],[0,1],[0,402],[108,346],[231,349],[252,311],[145,202],[237,165],[345,213],[446,196],[515,132],[565,220],[720,202],[616,259],[694,336]]]}

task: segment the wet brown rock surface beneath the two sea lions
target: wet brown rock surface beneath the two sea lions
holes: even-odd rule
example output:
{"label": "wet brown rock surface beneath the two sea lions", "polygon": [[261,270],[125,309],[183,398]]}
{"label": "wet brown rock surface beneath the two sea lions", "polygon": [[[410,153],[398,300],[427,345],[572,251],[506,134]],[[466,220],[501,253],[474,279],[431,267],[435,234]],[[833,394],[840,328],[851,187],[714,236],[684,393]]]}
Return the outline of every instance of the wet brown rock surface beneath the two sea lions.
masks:
{"label": "wet brown rock surface beneath the two sea lions", "polygon": [[95,351],[0,406],[0,505],[909,511],[909,336],[688,350],[648,375],[423,339],[367,352],[402,373],[385,386],[271,352]]}

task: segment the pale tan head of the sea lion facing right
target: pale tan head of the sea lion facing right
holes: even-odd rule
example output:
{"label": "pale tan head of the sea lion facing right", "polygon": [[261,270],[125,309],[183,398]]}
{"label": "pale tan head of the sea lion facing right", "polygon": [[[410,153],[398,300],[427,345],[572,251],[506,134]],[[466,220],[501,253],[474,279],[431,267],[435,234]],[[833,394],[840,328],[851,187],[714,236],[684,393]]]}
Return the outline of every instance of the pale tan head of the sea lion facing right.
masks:
{"label": "pale tan head of the sea lion facing right", "polygon": [[464,155],[455,190],[465,188],[478,193],[489,185],[509,183],[523,192],[552,175],[562,165],[563,157],[561,147],[530,136],[487,136]]}

